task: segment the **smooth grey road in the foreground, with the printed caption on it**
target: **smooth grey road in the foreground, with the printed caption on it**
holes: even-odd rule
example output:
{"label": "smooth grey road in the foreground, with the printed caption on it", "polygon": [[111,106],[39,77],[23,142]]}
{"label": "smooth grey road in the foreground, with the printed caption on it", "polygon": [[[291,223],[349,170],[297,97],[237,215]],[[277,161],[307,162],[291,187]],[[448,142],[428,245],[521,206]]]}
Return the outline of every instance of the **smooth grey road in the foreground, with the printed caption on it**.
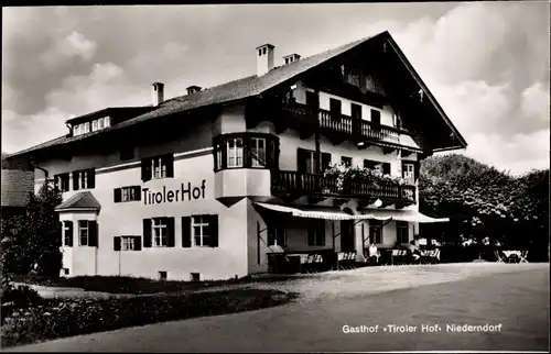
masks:
{"label": "smooth grey road in the foreground, with the printed caption on it", "polygon": [[[415,267],[415,266],[413,266]],[[272,284],[303,300],[229,316],[62,339],[33,352],[548,351],[549,265],[372,267]],[[344,333],[343,327],[378,327]],[[390,333],[388,324],[418,327]],[[422,324],[441,331],[422,332]],[[452,333],[447,324],[496,325]],[[497,331],[499,325],[500,331]]]}

